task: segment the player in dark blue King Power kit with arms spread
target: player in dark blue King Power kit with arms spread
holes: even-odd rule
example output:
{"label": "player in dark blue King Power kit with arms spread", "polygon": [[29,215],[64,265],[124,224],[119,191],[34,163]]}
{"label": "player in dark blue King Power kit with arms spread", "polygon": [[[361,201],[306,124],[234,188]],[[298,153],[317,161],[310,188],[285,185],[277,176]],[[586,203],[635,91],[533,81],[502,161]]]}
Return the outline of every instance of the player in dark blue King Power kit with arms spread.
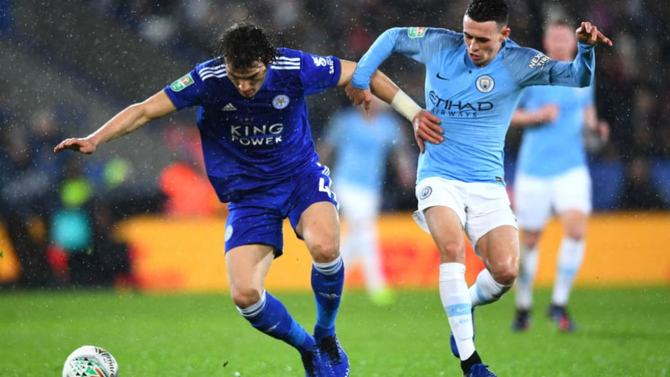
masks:
{"label": "player in dark blue King Power kit with arms spread", "polygon": [[[224,32],[216,56],[91,135],[66,139],[54,150],[89,154],[152,119],[199,106],[207,174],[220,201],[229,203],[225,249],[233,302],[254,328],[296,348],[307,376],[349,376],[335,334],[345,276],[338,203],[314,150],[305,96],[345,87],[356,63],[277,49],[264,30],[246,22]],[[372,81],[386,102],[399,92],[380,72]],[[282,253],[285,218],[312,255],[313,335],[264,288]]]}

